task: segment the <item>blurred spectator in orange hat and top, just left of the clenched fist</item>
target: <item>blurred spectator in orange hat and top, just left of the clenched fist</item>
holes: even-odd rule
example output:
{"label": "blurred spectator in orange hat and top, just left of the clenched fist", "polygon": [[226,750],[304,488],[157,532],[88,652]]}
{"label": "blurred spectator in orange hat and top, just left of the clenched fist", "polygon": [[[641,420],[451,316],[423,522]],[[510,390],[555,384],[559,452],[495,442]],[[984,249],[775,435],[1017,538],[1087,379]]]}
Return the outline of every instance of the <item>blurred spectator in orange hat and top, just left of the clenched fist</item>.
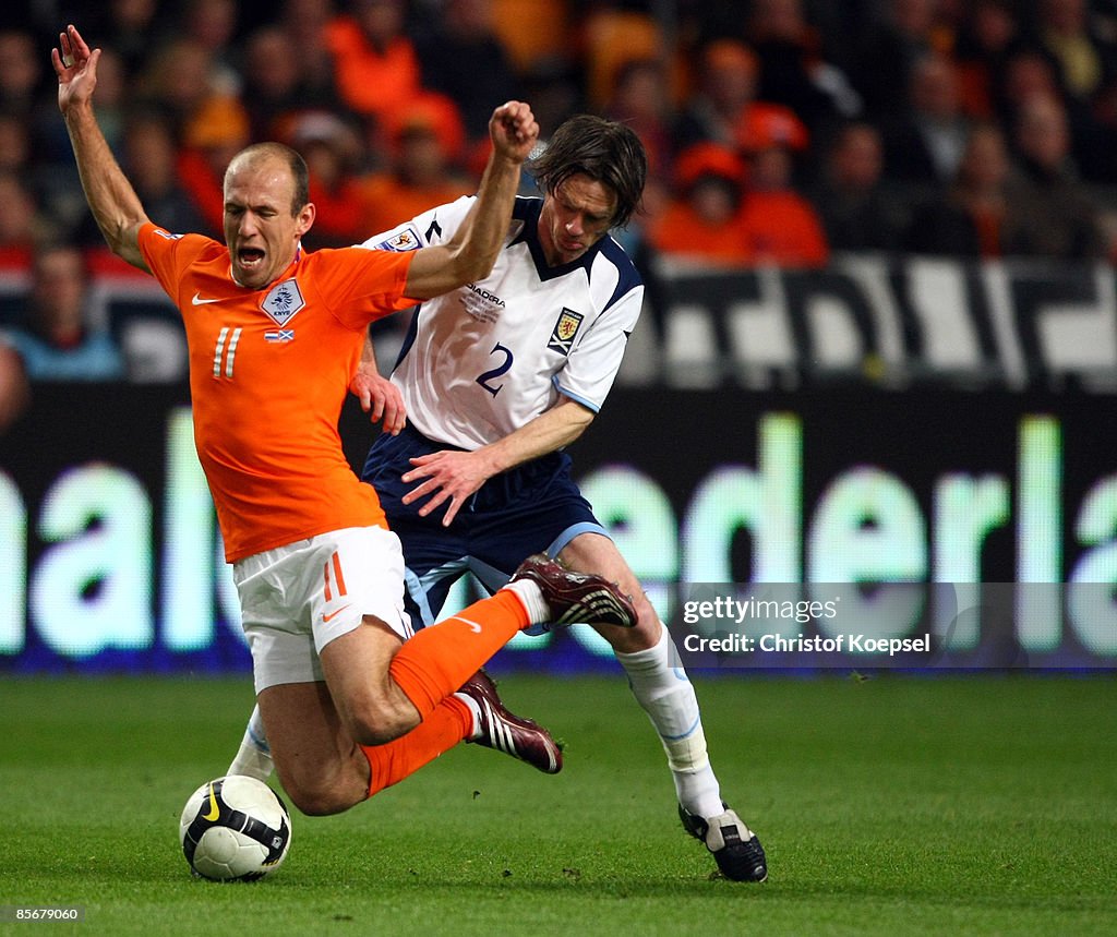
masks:
{"label": "blurred spectator in orange hat and top, just left of the clenched fist", "polygon": [[454,102],[433,92],[420,95],[389,126],[391,165],[361,187],[364,237],[388,231],[414,216],[477,187],[457,170],[465,132]]}

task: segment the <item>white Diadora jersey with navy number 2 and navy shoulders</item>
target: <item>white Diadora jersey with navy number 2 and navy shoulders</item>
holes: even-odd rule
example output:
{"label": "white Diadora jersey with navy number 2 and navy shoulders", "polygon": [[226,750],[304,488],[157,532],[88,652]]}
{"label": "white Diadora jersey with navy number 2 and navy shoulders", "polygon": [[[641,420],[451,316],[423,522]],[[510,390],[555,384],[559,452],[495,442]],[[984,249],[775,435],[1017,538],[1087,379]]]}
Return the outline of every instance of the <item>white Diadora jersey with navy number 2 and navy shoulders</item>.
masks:
{"label": "white Diadora jersey with navy number 2 and navy shoulders", "polygon": [[[454,237],[475,197],[423,212],[362,246],[416,250]],[[392,372],[408,419],[436,442],[478,449],[519,429],[563,394],[604,403],[643,304],[643,284],[604,237],[572,264],[547,267],[541,199],[517,198],[493,273],[416,310]]]}

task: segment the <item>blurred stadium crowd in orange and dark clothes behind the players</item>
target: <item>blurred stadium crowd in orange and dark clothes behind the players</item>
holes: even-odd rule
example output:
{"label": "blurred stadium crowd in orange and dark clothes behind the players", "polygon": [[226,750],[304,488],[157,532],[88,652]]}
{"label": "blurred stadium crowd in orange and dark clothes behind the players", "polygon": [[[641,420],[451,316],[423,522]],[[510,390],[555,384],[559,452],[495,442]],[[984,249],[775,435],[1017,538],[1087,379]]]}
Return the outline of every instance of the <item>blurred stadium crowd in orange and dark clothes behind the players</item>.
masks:
{"label": "blurred stadium crowd in orange and dark clothes behind the players", "polygon": [[311,166],[307,246],[360,242],[474,191],[516,97],[544,141],[583,111],[639,134],[651,178],[618,237],[647,270],[1117,261],[1115,0],[44,0],[0,12],[0,276],[59,243],[117,269],[56,104],[71,20],[105,50],[112,147],[176,230],[219,236],[229,157],[275,138]]}

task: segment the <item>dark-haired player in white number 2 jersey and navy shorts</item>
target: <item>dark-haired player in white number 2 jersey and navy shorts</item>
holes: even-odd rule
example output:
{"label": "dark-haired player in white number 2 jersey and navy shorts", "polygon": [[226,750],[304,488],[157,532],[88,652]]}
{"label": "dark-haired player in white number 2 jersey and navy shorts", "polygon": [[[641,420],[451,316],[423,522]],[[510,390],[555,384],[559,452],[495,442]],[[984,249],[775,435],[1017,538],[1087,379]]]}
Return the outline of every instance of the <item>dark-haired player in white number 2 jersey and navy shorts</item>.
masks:
{"label": "dark-haired player in white number 2 jersey and navy shorts", "polygon": [[[727,878],[763,881],[764,850],[722,800],[670,635],[562,451],[604,403],[640,315],[643,285],[609,231],[639,205],[643,147],[622,124],[581,115],[555,131],[532,170],[543,198],[516,200],[487,278],[416,309],[390,381],[366,346],[352,390],[374,420],[383,417],[385,432],[362,478],[402,541],[417,627],[436,621],[467,572],[497,589],[533,553],[633,596],[636,628],[594,628],[659,734],[682,824]],[[364,246],[441,243],[471,203],[432,209]]]}

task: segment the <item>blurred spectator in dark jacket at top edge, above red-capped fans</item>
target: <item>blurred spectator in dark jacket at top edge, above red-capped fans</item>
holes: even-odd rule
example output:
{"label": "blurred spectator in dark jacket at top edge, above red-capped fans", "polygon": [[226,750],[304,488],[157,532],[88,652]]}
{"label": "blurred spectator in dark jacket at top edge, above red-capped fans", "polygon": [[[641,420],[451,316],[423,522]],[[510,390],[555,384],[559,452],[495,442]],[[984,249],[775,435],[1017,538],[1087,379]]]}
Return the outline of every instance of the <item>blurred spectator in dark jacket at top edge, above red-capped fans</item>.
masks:
{"label": "blurred spectator in dark jacket at top edge, above red-capped fans", "polygon": [[827,60],[803,0],[753,0],[746,38],[760,60],[757,97],[790,107],[812,134],[860,112],[860,96]]}

